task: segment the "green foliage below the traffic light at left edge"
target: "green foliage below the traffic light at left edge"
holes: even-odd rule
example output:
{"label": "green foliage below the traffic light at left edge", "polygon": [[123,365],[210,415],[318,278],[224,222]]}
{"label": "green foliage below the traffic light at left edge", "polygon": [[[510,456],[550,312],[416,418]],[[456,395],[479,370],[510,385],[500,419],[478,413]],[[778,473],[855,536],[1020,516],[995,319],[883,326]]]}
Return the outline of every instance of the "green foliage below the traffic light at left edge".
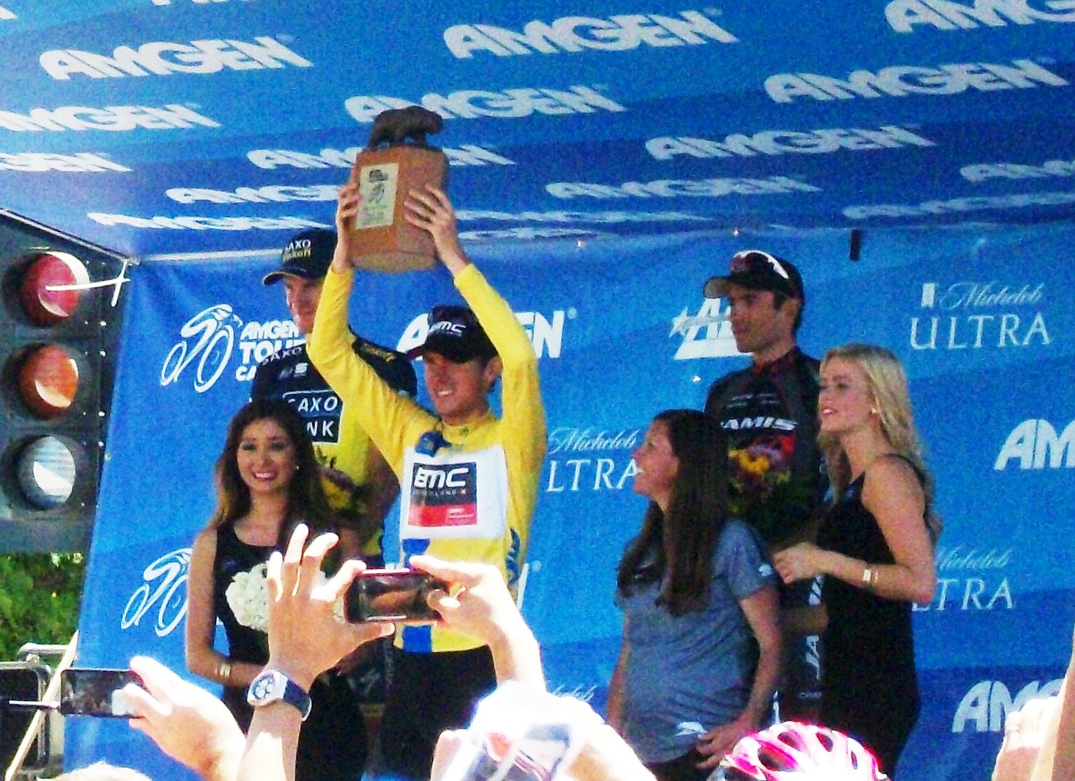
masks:
{"label": "green foliage below the traffic light at left edge", "polygon": [[0,661],[24,642],[71,639],[85,574],[82,553],[0,554]]}

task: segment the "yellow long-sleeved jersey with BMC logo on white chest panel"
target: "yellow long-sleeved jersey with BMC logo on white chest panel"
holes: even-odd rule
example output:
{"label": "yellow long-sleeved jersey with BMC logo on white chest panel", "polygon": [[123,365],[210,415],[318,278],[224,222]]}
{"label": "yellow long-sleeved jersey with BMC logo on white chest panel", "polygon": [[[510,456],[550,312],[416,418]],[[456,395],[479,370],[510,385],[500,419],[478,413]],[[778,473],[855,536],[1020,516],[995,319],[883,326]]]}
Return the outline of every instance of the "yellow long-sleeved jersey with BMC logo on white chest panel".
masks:
{"label": "yellow long-sleeved jersey with BMC logo on white chest panel", "polygon": [[[526,558],[545,457],[545,413],[538,358],[526,331],[485,277],[468,265],[456,287],[503,363],[501,408],[450,425],[403,399],[348,348],[347,300],[354,273],[329,271],[321,289],[310,357],[400,478],[401,553],[493,564],[515,584]],[[442,627],[406,627],[410,651],[479,647]]]}

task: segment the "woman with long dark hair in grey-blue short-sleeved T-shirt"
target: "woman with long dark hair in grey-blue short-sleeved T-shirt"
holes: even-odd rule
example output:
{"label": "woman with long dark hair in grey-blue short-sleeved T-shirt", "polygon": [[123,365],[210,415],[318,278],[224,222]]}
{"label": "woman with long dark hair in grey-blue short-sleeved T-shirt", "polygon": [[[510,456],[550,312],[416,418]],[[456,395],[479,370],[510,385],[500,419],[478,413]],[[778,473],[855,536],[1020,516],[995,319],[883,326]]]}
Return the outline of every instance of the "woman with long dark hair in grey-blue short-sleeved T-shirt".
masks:
{"label": "woman with long dark hair in grey-blue short-sleeved T-shirt", "polygon": [[702,781],[769,717],[779,670],[775,575],[727,517],[727,445],[694,409],[658,415],[634,451],[649,497],[624,553],[624,641],[608,720],[659,781]]}

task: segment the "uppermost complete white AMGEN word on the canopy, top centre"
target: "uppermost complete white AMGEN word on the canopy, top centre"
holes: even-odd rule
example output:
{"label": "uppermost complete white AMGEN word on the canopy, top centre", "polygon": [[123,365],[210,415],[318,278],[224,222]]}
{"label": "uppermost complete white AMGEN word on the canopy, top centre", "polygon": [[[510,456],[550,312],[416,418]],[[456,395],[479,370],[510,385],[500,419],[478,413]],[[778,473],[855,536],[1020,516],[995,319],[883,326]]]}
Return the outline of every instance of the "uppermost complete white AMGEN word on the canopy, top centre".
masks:
{"label": "uppermost complete white AMGEN word on the canopy, top centre", "polygon": [[728,30],[699,11],[663,14],[620,14],[606,19],[563,16],[546,23],[528,21],[521,30],[492,25],[453,25],[444,44],[459,59],[488,52],[497,57],[562,52],[625,52],[640,46],[701,46],[737,43]]}

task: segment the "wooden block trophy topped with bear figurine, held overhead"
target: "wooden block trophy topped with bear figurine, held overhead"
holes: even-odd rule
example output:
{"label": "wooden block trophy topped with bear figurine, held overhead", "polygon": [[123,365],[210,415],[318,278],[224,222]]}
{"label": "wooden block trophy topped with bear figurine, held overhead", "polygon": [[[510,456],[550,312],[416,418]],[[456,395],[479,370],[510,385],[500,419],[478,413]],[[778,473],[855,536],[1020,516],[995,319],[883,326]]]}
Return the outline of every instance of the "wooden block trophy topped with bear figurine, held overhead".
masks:
{"label": "wooden block trophy topped with bear figurine, held overhead", "polygon": [[377,115],[350,172],[362,196],[354,229],[360,248],[354,256],[357,267],[400,272],[435,263],[432,238],[403,219],[403,201],[410,190],[426,185],[444,188],[447,158],[426,143],[428,133],[443,127],[439,114],[417,105]]}

